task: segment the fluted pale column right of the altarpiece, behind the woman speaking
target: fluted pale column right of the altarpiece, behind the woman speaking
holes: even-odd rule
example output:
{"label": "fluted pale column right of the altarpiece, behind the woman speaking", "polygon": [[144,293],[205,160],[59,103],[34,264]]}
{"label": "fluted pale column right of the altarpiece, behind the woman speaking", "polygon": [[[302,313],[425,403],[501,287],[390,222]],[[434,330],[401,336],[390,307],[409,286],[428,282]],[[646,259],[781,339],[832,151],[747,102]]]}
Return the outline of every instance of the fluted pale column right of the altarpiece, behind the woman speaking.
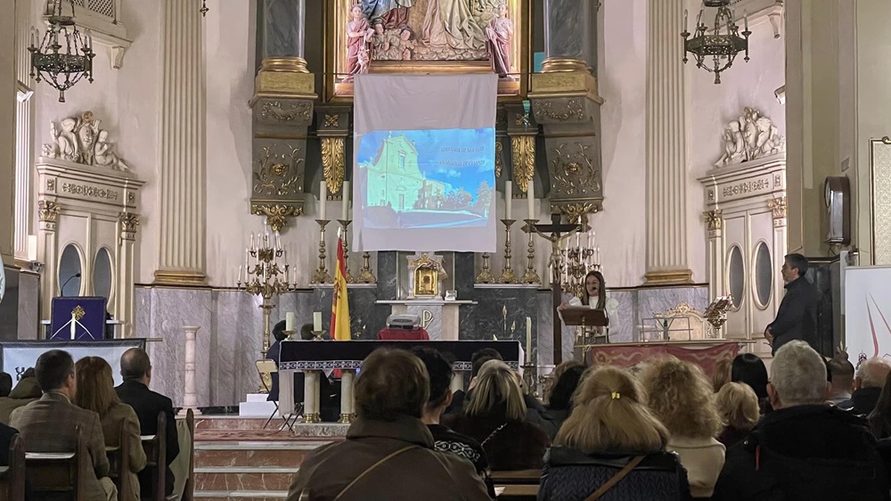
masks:
{"label": "fluted pale column right of the altarpiece, behind the woman speaking", "polygon": [[687,137],[683,0],[650,0],[647,15],[647,283],[691,283],[687,260]]}

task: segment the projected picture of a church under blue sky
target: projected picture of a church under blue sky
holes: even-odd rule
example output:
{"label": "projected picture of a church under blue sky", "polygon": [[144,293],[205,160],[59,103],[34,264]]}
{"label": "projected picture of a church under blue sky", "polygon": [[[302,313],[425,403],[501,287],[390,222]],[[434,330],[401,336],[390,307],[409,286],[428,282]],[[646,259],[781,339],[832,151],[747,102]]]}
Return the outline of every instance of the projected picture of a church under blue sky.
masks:
{"label": "projected picture of a church under blue sky", "polygon": [[366,227],[486,226],[494,129],[375,131],[362,137],[356,157]]}

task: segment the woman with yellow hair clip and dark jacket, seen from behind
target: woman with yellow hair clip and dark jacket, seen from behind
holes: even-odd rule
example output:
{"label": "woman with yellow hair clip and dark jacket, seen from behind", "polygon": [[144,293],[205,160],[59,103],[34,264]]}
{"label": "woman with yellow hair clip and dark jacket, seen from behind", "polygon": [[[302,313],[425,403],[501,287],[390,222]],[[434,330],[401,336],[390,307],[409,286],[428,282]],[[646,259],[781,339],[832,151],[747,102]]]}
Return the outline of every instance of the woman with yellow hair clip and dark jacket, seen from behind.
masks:
{"label": "woman with yellow hair clip and dark jacket, seen from behind", "polygon": [[539,501],[588,499],[617,475],[622,481],[601,493],[602,499],[689,499],[687,472],[666,452],[668,431],[645,399],[630,373],[612,366],[593,369],[545,456]]}

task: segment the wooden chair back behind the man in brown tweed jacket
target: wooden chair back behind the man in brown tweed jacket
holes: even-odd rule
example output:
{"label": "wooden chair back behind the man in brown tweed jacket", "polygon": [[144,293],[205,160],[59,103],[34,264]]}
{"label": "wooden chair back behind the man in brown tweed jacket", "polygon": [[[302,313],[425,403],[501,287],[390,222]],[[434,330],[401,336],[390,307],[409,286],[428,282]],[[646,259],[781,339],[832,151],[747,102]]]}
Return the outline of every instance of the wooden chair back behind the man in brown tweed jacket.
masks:
{"label": "wooden chair back behind the man in brown tweed jacket", "polygon": [[78,426],[74,452],[29,452],[25,454],[25,477],[38,499],[69,495],[76,501],[86,500],[86,487],[80,479],[93,468],[86,451],[83,431]]}

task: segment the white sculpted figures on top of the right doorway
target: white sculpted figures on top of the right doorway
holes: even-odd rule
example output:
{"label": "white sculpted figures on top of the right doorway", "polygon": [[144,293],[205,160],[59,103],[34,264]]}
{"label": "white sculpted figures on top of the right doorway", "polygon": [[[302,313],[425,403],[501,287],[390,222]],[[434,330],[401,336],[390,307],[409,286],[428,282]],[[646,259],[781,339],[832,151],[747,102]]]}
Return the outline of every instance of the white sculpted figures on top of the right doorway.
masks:
{"label": "white sculpted figures on top of the right doorway", "polygon": [[746,108],[739,119],[724,128],[724,152],[715,167],[727,167],[744,161],[757,160],[786,151],[786,138],[771,119],[761,116],[755,108]]}

